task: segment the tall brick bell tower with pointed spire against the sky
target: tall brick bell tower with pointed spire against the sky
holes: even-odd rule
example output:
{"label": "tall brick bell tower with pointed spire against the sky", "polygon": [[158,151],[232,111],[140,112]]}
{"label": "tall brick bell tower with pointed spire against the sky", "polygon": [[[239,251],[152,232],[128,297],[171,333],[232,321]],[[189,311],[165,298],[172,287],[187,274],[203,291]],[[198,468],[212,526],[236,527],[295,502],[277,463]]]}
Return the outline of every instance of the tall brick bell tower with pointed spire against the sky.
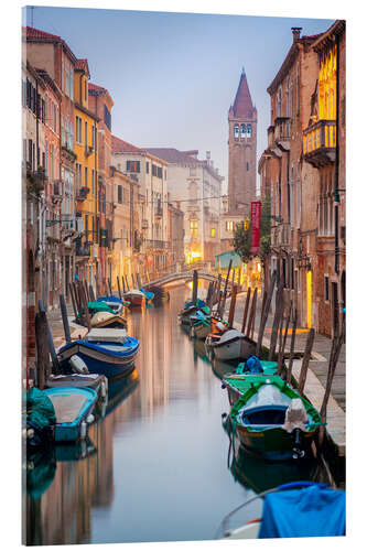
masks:
{"label": "tall brick bell tower with pointed spire against the sky", "polygon": [[257,109],[242,68],[235,102],[228,112],[228,206],[231,213],[249,215],[250,203],[256,198],[257,121]]}

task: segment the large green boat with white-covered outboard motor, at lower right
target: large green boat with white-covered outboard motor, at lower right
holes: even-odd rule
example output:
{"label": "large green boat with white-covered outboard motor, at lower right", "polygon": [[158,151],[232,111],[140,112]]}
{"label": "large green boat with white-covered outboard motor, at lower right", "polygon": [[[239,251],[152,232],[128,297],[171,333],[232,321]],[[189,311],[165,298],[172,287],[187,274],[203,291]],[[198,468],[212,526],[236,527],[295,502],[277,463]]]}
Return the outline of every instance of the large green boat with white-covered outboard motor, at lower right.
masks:
{"label": "large green boat with white-covered outboard motor, at lower right", "polygon": [[241,396],[228,421],[244,447],[271,461],[309,455],[320,413],[287,381],[278,375],[249,375],[236,380],[236,391]]}

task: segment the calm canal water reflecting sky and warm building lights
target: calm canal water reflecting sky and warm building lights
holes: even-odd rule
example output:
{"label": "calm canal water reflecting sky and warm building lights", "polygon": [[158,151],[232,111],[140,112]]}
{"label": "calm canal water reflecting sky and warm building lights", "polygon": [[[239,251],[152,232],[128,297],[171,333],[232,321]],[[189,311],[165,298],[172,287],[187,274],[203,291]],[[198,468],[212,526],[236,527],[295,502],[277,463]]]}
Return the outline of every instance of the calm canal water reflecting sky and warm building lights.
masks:
{"label": "calm canal water reflecting sky and warm building lights", "polygon": [[238,451],[228,468],[227,395],[204,345],[177,324],[188,295],[181,287],[170,302],[129,314],[129,333],[141,342],[136,370],[110,385],[87,446],[29,458],[28,544],[211,540],[256,493],[317,478],[313,463],[269,464]]}

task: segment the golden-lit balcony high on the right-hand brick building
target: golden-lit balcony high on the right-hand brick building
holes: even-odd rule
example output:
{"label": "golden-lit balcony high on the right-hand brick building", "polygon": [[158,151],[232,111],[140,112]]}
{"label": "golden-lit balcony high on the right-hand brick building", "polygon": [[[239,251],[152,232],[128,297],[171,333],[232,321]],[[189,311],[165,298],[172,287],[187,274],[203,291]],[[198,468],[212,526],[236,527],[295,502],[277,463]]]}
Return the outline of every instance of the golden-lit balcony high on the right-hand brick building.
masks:
{"label": "golden-lit balcony high on the right-hand brick building", "polygon": [[316,169],[335,163],[336,121],[319,120],[303,131],[303,155]]}

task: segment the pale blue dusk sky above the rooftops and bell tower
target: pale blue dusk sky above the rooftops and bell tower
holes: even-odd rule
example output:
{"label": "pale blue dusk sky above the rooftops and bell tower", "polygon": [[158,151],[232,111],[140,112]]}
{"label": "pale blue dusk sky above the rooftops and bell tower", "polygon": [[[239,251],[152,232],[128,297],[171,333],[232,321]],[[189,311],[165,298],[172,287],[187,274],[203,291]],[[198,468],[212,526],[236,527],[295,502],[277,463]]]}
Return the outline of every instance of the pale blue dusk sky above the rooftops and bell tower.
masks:
{"label": "pale blue dusk sky above the rooftops and bell tower", "polygon": [[228,109],[242,67],[258,109],[258,159],[267,147],[267,87],[302,34],[325,31],[334,20],[209,15],[143,11],[42,8],[26,24],[62,36],[87,57],[90,82],[115,101],[112,133],[138,147],[211,151],[228,172]]}

